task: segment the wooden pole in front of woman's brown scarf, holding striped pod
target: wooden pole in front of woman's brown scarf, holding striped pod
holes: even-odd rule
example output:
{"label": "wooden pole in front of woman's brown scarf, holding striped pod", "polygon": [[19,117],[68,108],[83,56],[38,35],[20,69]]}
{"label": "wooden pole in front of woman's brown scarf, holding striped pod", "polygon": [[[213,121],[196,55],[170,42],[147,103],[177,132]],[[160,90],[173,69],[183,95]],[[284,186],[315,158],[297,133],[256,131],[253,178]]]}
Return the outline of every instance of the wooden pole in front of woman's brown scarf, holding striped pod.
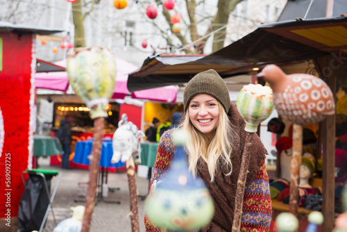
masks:
{"label": "wooden pole in front of woman's brown scarf, holding striped pod", "polygon": [[246,177],[248,174],[249,155],[252,147],[254,133],[247,132],[246,142],[244,144],[244,154],[239,171],[239,179],[237,180],[237,189],[235,197],[234,221],[232,222],[232,232],[239,232],[241,226],[242,206],[244,203],[244,188],[246,185]]}

